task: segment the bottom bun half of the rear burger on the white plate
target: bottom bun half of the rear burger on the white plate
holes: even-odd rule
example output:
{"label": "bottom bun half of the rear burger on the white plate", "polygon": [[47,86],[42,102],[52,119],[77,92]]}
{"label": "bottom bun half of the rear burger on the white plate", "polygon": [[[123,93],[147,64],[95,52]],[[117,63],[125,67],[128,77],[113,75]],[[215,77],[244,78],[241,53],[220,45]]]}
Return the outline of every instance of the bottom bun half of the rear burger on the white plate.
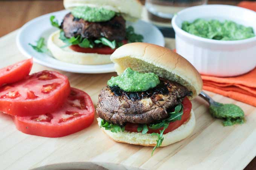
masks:
{"label": "bottom bun half of the rear burger on the white plate", "polygon": [[66,45],[59,39],[60,31],[52,33],[47,41],[47,48],[53,57],[67,63],[81,65],[101,65],[112,63],[109,54],[97,53],[79,53],[71,50],[69,47],[61,48]]}

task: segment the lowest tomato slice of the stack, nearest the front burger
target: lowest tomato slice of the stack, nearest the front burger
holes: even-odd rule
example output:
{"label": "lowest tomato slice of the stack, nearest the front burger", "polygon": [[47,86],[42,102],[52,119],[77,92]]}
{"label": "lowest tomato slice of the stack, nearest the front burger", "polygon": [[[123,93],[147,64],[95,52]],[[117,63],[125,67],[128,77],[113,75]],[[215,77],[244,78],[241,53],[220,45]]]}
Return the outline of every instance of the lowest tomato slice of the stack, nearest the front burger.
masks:
{"label": "lowest tomato slice of the stack, nearest the front burger", "polygon": [[90,126],[94,120],[94,106],[87,93],[71,88],[69,97],[58,110],[38,116],[13,116],[13,120],[23,133],[62,137]]}

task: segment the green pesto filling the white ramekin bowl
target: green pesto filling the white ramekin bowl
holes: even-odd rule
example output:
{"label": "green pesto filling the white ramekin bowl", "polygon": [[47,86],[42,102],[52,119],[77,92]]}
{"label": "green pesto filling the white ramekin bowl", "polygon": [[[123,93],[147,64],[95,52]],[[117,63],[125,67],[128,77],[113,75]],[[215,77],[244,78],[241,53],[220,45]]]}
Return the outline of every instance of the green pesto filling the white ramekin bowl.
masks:
{"label": "green pesto filling the white ramekin bowl", "polygon": [[206,21],[197,19],[192,23],[184,21],[182,27],[184,31],[203,38],[216,40],[241,40],[254,37],[252,27],[245,27],[233,21],[218,20]]}

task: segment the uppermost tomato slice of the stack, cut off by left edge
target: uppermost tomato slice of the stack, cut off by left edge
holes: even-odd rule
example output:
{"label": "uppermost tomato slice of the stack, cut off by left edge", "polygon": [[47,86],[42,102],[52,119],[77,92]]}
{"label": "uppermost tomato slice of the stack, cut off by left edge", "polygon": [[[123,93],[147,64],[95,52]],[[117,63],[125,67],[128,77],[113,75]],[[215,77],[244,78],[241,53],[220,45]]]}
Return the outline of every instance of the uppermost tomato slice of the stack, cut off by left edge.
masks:
{"label": "uppermost tomato slice of the stack, cut off by left edge", "polygon": [[0,86],[24,79],[29,75],[32,65],[33,59],[31,58],[0,69]]}

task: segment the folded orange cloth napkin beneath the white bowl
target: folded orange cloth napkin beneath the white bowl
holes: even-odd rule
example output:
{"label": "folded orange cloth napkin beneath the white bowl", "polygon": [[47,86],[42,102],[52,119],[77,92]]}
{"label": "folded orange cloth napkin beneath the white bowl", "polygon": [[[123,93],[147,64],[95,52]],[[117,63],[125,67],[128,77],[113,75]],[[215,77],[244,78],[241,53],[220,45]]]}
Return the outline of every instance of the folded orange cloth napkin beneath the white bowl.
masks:
{"label": "folded orange cloth napkin beneath the white bowl", "polygon": [[203,89],[256,107],[256,68],[236,77],[201,75]]}

